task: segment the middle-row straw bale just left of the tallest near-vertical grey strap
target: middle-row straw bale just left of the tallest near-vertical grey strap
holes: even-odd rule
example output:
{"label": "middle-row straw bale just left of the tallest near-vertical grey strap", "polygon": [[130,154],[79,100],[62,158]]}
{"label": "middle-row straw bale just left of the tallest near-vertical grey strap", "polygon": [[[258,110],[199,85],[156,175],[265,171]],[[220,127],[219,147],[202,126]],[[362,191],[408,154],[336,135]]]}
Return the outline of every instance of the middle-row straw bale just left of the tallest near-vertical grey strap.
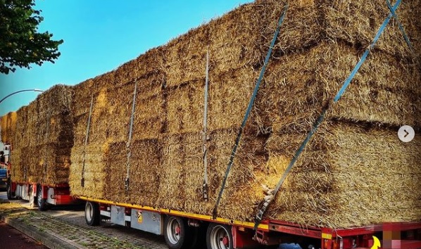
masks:
{"label": "middle-row straw bale just left of the tallest near-vertical grey strap", "polygon": [[203,129],[204,79],[168,90],[167,127],[170,134]]}

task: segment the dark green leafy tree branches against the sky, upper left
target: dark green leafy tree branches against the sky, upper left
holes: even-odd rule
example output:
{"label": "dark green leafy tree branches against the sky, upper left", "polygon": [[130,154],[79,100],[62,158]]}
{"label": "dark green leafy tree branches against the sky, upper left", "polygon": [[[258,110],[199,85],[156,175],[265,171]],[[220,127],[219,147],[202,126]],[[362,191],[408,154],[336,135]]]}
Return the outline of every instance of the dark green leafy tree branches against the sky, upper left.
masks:
{"label": "dark green leafy tree branches against the sky, upper left", "polygon": [[44,18],[34,5],[34,0],[0,0],[0,73],[31,68],[31,63],[54,63],[60,56],[58,45],[63,40],[52,40],[48,31],[38,32]]}

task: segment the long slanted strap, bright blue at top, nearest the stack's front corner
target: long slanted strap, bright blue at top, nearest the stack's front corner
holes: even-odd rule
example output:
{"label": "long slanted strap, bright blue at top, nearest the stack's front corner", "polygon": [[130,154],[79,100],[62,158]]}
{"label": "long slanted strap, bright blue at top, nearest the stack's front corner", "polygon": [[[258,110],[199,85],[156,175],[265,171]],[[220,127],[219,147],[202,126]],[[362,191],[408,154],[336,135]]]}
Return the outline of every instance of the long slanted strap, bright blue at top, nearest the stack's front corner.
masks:
{"label": "long slanted strap, bright blue at top, nearest the stack's front corner", "polygon": [[[396,4],[391,9],[393,11],[396,11],[396,8],[398,8],[399,4],[401,4],[401,0],[397,0],[396,1]],[[389,13],[389,15],[387,16],[387,18],[384,20],[384,22],[382,23],[382,26],[377,31],[377,34],[376,34],[375,38],[372,41],[372,44],[370,44],[370,46],[365,50],[363,56],[360,58],[360,61],[358,61],[356,67],[353,68],[351,74],[346,79],[346,81],[342,85],[341,89],[338,91],[337,95],[334,97],[333,103],[337,103],[337,101],[339,101],[339,99],[341,98],[341,96],[344,94],[344,92],[345,92],[346,88],[348,87],[349,83],[351,82],[351,80],[353,79],[353,77],[356,75],[356,73],[358,72],[360,66],[363,64],[363,62],[367,58],[368,54],[370,53],[370,50],[377,43],[377,40],[379,39],[380,35],[384,31],[384,28],[389,23],[392,15],[393,15],[392,13]],[[262,218],[263,218],[263,215],[265,214],[265,211],[267,210],[267,208],[270,205],[270,203],[272,202],[272,200],[275,199],[275,196],[276,196],[277,192],[279,191],[280,187],[282,186],[282,183],[284,182],[284,180],[287,178],[287,175],[291,171],[291,168],[294,166],[294,163],[296,162],[296,160],[298,160],[299,156],[303,152],[303,149],[306,147],[308,141],[310,141],[310,139],[313,136],[313,134],[315,134],[315,132],[317,131],[318,127],[320,126],[320,124],[325,119],[325,114],[326,114],[326,111],[328,109],[329,109],[329,102],[326,104],[326,106],[324,106],[324,108],[322,109],[322,113],[320,113],[320,116],[318,117],[318,120],[316,120],[316,122],[313,124],[313,127],[310,129],[310,132],[308,132],[308,134],[306,136],[306,139],[304,139],[304,141],[301,143],[301,146],[299,147],[299,149],[294,154],[293,158],[291,159],[291,162],[289,162],[289,165],[288,165],[287,169],[285,170],[285,172],[282,175],[281,179],[279,179],[279,181],[278,181],[275,189],[273,189],[271,191],[268,191],[268,196],[265,196],[265,198],[263,199],[263,201],[262,201],[263,205],[261,205],[260,209],[258,210],[258,213],[257,213],[256,217],[254,218],[254,220],[255,220],[254,230],[255,231],[257,231],[258,225],[262,221]]]}

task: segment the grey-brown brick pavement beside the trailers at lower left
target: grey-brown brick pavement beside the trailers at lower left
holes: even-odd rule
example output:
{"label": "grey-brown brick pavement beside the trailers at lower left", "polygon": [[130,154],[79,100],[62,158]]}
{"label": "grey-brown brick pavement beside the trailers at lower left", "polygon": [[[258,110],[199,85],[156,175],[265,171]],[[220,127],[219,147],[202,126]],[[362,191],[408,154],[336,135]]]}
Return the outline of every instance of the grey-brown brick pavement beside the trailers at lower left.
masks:
{"label": "grey-brown brick pavement beside the trailers at lower left", "polygon": [[110,223],[87,226],[77,212],[82,211],[39,212],[18,203],[0,202],[0,216],[6,223],[26,229],[49,248],[167,248],[161,236]]}

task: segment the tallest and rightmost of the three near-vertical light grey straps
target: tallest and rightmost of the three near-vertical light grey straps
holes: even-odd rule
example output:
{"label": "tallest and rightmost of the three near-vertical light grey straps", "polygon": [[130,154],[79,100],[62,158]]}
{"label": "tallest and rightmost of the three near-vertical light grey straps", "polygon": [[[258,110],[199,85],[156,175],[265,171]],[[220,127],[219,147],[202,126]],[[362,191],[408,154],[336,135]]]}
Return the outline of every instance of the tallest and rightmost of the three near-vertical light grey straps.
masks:
{"label": "tallest and rightmost of the three near-vertical light grey straps", "polygon": [[209,89],[209,51],[206,52],[206,80],[205,80],[205,110],[203,112],[203,199],[208,200],[208,89]]}

